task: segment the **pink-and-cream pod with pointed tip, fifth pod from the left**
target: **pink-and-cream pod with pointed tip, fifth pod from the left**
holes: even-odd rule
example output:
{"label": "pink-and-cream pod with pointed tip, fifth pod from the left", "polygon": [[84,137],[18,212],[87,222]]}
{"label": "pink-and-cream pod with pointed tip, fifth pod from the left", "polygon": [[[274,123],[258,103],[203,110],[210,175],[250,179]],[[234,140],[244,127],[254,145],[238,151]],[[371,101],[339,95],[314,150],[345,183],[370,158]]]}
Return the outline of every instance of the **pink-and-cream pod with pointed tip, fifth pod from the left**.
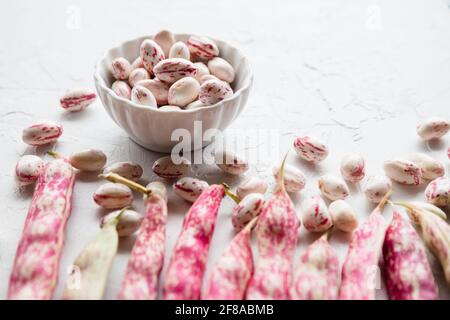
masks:
{"label": "pink-and-cream pod with pointed tip, fifth pod from the left", "polygon": [[253,254],[250,245],[253,219],[231,241],[216,262],[202,298],[205,300],[243,300],[253,274]]}

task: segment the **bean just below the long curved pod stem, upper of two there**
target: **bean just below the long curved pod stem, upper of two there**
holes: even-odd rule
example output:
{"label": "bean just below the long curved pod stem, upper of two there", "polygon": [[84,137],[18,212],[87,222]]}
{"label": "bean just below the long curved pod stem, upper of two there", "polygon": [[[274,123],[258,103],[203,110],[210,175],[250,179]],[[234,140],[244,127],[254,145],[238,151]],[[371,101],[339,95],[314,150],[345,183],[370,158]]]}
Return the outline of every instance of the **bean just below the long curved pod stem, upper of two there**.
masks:
{"label": "bean just below the long curved pod stem, upper of two there", "polygon": [[123,184],[108,182],[94,192],[94,201],[105,209],[120,209],[133,202],[133,193]]}

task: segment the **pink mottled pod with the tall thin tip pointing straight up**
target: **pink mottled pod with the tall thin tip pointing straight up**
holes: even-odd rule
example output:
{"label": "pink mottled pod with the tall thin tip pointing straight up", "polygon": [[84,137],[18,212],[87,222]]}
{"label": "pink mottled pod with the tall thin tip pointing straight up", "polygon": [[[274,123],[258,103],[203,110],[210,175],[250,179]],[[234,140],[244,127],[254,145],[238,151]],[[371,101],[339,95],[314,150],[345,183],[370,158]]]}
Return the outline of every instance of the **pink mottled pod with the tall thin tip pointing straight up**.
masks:
{"label": "pink mottled pod with the tall thin tip pointing straight up", "polygon": [[259,259],[247,288],[249,300],[289,298],[300,221],[284,187],[285,160],[273,196],[266,201],[256,227]]}

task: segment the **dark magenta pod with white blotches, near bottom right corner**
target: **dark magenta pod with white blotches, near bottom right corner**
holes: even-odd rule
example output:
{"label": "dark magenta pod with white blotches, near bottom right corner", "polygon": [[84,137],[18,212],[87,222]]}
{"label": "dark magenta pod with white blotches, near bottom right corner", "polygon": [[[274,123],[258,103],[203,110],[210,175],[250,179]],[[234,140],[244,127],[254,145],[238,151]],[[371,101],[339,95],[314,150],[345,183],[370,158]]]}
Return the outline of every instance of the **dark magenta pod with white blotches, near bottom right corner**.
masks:
{"label": "dark magenta pod with white blotches, near bottom right corner", "polygon": [[392,300],[434,300],[438,288],[416,230],[394,212],[383,245],[387,289]]}

